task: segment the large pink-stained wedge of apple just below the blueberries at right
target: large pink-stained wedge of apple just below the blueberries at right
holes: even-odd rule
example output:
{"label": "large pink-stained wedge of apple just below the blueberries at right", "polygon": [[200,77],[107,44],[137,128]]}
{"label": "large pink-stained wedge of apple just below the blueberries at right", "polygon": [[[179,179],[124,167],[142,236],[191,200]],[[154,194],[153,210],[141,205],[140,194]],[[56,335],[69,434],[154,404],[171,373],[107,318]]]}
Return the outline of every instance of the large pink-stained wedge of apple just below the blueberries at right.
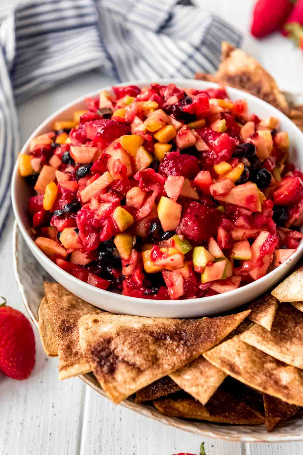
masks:
{"label": "large pink-stained wedge of apple just below the blueberries at right", "polygon": [[258,187],[255,183],[247,182],[232,188],[227,195],[213,196],[219,201],[229,202],[252,212],[261,212],[262,206]]}

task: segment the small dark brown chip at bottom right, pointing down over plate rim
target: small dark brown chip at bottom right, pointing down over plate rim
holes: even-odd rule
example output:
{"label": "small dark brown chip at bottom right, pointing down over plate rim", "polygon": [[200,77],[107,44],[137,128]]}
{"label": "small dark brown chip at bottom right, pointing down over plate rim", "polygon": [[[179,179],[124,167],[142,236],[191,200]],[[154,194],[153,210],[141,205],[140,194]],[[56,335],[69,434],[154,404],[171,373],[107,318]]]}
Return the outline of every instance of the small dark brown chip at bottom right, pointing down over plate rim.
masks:
{"label": "small dark brown chip at bottom right, pointing down over plate rim", "polygon": [[264,410],[265,410],[265,425],[267,431],[272,431],[278,423],[285,422],[295,415],[300,406],[288,404],[281,399],[263,394]]}

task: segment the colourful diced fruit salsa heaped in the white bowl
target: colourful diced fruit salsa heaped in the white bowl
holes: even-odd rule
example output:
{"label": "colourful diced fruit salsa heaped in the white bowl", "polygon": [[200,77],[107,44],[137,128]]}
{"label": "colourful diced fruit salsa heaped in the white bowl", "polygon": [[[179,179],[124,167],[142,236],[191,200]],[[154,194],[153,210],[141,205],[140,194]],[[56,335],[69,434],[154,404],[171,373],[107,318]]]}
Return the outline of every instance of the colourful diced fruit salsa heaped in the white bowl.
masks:
{"label": "colourful diced fruit salsa heaped in the white bowl", "polygon": [[35,243],[66,272],[131,297],[198,298],[296,251],[303,173],[278,119],[223,87],[113,87],[85,104],[19,156]]}

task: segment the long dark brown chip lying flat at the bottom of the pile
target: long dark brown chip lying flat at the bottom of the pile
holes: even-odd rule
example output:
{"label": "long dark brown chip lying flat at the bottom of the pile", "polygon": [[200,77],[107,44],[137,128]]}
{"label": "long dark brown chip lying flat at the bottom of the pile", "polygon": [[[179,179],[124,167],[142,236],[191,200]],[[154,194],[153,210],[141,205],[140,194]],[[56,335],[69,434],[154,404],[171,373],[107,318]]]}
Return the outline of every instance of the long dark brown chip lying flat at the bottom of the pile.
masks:
{"label": "long dark brown chip lying flat at the bottom of the pile", "polygon": [[153,404],[162,414],[174,417],[239,425],[264,423],[263,414],[250,405],[248,396],[234,393],[237,385],[234,381],[232,390],[223,384],[206,405],[184,392],[154,400]]}

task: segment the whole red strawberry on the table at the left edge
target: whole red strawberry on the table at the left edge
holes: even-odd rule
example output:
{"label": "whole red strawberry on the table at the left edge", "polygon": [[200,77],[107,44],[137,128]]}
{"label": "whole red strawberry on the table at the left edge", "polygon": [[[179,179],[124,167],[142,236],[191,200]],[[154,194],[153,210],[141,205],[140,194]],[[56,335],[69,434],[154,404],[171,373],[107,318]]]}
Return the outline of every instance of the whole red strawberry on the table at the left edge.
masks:
{"label": "whole red strawberry on the table at the left edge", "polygon": [[0,371],[13,379],[27,379],[35,366],[35,336],[20,311],[0,306]]}

